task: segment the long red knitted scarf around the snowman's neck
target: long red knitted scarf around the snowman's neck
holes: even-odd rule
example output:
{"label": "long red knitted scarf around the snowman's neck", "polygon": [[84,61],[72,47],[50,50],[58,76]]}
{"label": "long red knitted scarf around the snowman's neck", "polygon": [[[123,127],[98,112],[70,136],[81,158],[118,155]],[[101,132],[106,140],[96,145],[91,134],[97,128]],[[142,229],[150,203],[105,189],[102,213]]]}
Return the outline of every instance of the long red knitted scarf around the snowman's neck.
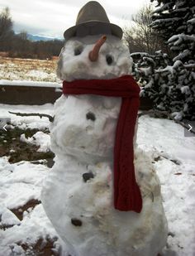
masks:
{"label": "long red knitted scarf around the snowman's neck", "polygon": [[114,146],[114,206],[117,210],[140,212],[142,198],[136,183],[133,152],[140,87],[131,75],[124,75],[112,80],[64,81],[63,93],[122,98]]}

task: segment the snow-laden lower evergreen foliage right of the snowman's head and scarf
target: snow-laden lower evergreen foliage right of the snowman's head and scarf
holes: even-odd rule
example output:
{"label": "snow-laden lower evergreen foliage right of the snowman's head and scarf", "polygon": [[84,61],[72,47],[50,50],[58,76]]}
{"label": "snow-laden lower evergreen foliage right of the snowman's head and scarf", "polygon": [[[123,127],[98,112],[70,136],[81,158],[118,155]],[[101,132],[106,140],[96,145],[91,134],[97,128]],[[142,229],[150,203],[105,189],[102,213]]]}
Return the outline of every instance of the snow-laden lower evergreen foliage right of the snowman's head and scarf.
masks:
{"label": "snow-laden lower evergreen foliage right of the snowman's head and scarf", "polygon": [[195,83],[188,65],[180,60],[173,62],[167,54],[157,51],[133,53],[134,75],[142,85],[141,97],[153,100],[154,108],[168,111],[178,120],[195,119]]}

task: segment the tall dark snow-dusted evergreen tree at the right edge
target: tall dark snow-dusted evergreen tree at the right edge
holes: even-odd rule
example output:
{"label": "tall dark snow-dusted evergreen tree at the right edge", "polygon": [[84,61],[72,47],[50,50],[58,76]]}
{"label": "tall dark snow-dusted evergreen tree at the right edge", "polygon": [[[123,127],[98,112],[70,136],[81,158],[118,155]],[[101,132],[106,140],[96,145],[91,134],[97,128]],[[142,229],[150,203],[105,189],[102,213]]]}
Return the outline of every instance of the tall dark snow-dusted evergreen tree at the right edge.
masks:
{"label": "tall dark snow-dusted evergreen tree at the right edge", "polygon": [[[150,74],[148,83],[146,80],[142,94],[155,99],[157,108],[168,110],[175,118],[194,120],[195,2],[194,0],[158,0],[157,2],[158,8],[155,10],[151,26],[168,42],[174,57],[165,68],[155,64],[155,69]],[[156,57],[153,56],[151,59],[155,62]]]}

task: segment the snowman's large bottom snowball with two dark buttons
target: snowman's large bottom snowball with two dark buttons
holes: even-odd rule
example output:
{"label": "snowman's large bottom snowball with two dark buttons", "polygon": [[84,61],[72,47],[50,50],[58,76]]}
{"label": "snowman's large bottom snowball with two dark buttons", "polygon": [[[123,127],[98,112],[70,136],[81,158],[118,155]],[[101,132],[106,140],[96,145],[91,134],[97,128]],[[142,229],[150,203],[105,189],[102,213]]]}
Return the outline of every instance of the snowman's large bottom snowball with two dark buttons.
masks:
{"label": "snowman's large bottom snowball with two dark buttons", "polygon": [[[167,223],[159,180],[143,152],[135,152],[136,179],[143,198],[140,214],[114,209],[111,162],[88,166],[71,156],[55,160],[42,203],[69,254],[156,256],[160,252],[166,244]],[[88,181],[84,173],[90,173]]]}

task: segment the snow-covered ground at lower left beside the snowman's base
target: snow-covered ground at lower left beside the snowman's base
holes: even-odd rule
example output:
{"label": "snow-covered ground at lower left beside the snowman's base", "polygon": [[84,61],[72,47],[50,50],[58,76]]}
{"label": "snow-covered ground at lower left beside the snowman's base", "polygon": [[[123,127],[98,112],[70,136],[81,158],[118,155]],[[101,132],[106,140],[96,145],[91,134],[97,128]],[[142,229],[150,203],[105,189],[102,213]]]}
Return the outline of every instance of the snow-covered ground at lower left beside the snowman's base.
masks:
{"label": "snow-covered ground at lower left beside the snowman's base", "polygon": [[[18,243],[31,244],[39,237],[45,239],[47,235],[56,235],[42,205],[36,205],[34,210],[26,211],[21,221],[11,211],[25,205],[29,200],[40,200],[42,180],[48,168],[30,162],[10,164],[7,160],[7,157],[0,158],[0,225],[13,226],[0,230],[0,255],[4,256],[17,255],[12,254],[12,249],[19,249]],[[21,248],[20,251],[18,255],[24,255]]]}

